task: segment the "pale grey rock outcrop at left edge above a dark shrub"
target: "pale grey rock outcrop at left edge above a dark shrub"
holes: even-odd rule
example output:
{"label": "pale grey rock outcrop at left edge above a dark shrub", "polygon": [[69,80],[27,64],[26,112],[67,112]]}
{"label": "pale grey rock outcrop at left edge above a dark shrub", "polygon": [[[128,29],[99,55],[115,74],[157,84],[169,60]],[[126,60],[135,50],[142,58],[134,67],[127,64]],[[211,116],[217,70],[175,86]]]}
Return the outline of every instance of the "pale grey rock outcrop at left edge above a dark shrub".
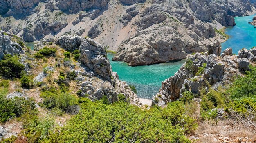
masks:
{"label": "pale grey rock outcrop at left edge above a dark shrub", "polygon": [[4,57],[4,54],[14,55],[24,53],[22,47],[12,38],[13,35],[0,30],[0,60]]}

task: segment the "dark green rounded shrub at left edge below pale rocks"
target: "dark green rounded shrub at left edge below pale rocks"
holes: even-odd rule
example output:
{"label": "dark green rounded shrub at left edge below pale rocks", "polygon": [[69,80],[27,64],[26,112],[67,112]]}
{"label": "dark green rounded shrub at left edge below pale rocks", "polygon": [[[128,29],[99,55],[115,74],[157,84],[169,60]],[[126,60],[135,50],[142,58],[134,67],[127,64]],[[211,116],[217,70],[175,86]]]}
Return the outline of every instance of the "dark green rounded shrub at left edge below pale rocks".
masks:
{"label": "dark green rounded shrub at left edge below pale rocks", "polygon": [[20,78],[20,72],[24,69],[24,65],[18,61],[17,56],[9,54],[4,55],[0,61],[0,76],[4,78]]}

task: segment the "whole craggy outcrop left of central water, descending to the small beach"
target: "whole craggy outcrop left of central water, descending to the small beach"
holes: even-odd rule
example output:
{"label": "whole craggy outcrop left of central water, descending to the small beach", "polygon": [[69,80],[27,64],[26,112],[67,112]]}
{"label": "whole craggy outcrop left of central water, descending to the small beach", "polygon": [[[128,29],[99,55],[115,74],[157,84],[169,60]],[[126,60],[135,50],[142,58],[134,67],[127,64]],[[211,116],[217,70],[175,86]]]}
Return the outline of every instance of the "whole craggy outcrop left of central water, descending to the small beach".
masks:
{"label": "whole craggy outcrop left of central water, descending to the small beach", "polygon": [[68,51],[80,51],[78,69],[70,68],[76,73],[76,82],[81,97],[99,100],[106,96],[113,103],[118,101],[118,95],[124,95],[127,102],[141,106],[137,95],[131,91],[126,82],[120,81],[116,72],[112,72],[110,62],[103,46],[90,38],[80,36],[62,36],[56,41]]}

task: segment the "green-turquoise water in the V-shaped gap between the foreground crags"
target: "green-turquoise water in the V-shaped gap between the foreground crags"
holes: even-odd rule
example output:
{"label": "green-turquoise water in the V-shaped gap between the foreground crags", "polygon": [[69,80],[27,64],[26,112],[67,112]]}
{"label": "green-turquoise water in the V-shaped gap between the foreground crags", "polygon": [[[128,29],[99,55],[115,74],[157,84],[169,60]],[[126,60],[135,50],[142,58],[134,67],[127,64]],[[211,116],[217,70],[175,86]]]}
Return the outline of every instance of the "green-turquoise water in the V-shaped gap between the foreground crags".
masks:
{"label": "green-turquoise water in the V-shaped gap between the foreground crags", "polygon": [[122,61],[112,61],[114,54],[108,53],[112,70],[117,72],[119,79],[132,84],[137,89],[140,98],[151,99],[161,88],[162,81],[173,76],[185,60],[130,67]]}

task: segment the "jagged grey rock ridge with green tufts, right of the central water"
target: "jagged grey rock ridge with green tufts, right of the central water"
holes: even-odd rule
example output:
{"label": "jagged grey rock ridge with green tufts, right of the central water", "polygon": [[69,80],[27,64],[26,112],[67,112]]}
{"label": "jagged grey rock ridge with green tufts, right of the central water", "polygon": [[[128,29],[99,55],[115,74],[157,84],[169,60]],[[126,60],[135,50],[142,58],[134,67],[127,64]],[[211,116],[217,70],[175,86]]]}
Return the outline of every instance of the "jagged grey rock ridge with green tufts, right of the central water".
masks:
{"label": "jagged grey rock ridge with green tufts, right of the central water", "polygon": [[238,56],[232,55],[232,48],[227,48],[220,56],[218,50],[221,49],[218,44],[216,47],[218,48],[213,48],[215,50],[209,55],[196,53],[189,56],[174,76],[162,82],[159,93],[152,98],[152,104],[164,106],[168,102],[181,98],[185,91],[191,91],[194,94],[200,94],[201,90],[208,92],[209,85],[213,89],[219,86],[225,88],[225,85],[232,83],[233,75],[243,76],[249,69],[249,64],[256,62],[256,48],[242,49]]}

